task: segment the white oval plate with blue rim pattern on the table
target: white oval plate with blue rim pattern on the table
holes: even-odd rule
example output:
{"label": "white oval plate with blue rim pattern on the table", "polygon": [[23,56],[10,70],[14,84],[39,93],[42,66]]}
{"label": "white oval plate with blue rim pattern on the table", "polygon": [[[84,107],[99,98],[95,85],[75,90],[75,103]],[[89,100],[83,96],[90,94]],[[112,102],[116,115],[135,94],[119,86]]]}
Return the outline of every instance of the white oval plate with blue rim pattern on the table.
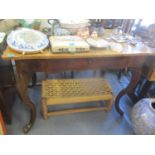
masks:
{"label": "white oval plate with blue rim pattern on the table", "polygon": [[22,53],[36,53],[45,49],[49,40],[45,34],[29,28],[19,28],[7,37],[7,44]]}

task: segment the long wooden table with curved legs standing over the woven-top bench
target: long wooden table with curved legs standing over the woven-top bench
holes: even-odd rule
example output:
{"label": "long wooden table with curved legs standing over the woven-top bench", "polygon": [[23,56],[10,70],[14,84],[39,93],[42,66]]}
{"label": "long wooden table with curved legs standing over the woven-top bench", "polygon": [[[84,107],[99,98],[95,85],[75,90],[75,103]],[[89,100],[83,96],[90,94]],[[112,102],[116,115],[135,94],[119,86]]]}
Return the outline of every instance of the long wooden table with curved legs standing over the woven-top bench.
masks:
{"label": "long wooden table with curved legs standing over the woven-top bench", "polygon": [[123,115],[119,106],[120,98],[132,92],[140,79],[144,62],[152,56],[155,56],[155,53],[148,48],[125,45],[123,52],[92,49],[88,53],[75,54],[52,54],[50,50],[45,50],[43,53],[22,55],[7,48],[2,58],[15,60],[19,94],[23,104],[30,109],[30,120],[24,127],[24,132],[27,133],[36,119],[36,107],[28,95],[28,82],[35,72],[56,73],[72,70],[110,70],[128,67],[132,71],[132,79],[115,99],[116,110],[120,115]]}

